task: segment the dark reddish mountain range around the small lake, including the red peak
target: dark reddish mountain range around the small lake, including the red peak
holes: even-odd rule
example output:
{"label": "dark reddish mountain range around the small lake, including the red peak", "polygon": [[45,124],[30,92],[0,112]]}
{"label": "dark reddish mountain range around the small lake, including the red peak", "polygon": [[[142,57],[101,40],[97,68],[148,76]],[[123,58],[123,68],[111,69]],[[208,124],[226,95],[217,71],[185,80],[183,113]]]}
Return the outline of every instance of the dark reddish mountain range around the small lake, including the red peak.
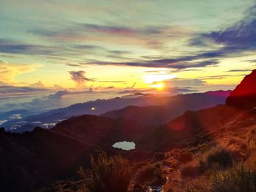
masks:
{"label": "dark reddish mountain range around the small lake, including the red peak", "polygon": [[[74,177],[79,166],[89,165],[89,154],[101,150],[136,162],[157,151],[221,142],[234,131],[255,125],[255,79],[253,71],[224,104],[227,91],[194,93],[168,98],[159,106],[128,106],[102,116],[72,117],[53,128],[37,127],[23,134],[1,128],[0,191],[35,191],[55,180]],[[241,94],[245,89],[254,91],[246,97]],[[75,111],[75,106],[71,108]],[[49,118],[53,114],[58,113],[48,113]],[[135,150],[112,147],[124,140],[135,142]]]}

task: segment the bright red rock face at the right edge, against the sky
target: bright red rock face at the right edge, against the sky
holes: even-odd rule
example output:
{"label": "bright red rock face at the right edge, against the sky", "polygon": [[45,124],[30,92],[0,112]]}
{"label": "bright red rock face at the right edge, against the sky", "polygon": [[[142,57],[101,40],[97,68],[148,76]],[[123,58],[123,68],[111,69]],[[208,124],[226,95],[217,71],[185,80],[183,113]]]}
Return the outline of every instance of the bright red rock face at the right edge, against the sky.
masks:
{"label": "bright red rock face at the right edge, against the sky", "polygon": [[243,110],[256,107],[256,70],[244,77],[244,80],[230,93],[226,104]]}

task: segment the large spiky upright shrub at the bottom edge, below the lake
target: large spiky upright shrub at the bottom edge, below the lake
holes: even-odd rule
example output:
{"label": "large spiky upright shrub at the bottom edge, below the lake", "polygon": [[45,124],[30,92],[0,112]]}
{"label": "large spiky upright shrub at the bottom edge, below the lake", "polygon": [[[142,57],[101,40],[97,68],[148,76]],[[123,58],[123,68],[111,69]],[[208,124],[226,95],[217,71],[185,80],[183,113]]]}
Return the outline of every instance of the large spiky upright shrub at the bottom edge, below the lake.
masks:
{"label": "large spiky upright shrub at the bottom edge, below the lake", "polygon": [[83,179],[83,191],[127,191],[131,178],[131,169],[126,159],[118,156],[108,156],[100,153],[97,161],[91,156],[91,168],[78,169],[78,174]]}

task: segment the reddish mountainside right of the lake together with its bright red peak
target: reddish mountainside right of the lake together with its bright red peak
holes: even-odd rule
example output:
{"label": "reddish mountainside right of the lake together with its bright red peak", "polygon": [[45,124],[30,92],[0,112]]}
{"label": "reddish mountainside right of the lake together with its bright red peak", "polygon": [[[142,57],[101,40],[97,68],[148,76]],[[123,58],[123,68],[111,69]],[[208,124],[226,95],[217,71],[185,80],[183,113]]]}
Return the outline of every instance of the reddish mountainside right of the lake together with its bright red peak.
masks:
{"label": "reddish mountainside right of the lake together with its bright red peak", "polygon": [[[215,94],[215,92],[209,93]],[[217,96],[219,94],[222,95],[222,93],[217,93]],[[195,97],[192,99],[192,103],[193,101],[202,101],[204,103],[203,99],[206,99],[207,94],[208,93],[206,93],[204,97],[202,95],[200,95],[202,96],[200,98]],[[193,95],[197,96],[196,93]],[[187,103],[187,105],[189,105],[189,103]],[[200,139],[211,140],[214,132],[221,134],[221,132],[224,131],[223,129],[219,130],[219,127],[224,127],[226,123],[228,128],[232,128],[230,124],[234,122],[248,122],[252,123],[252,125],[256,123],[256,111],[251,110],[255,105],[256,70],[246,75],[244,80],[230,93],[226,105],[218,105],[217,107],[196,112],[187,111],[184,115],[154,128],[151,133],[149,132],[143,136],[138,146],[144,150],[166,150],[178,143],[187,142],[189,139],[194,139],[197,141],[197,144],[200,142]],[[116,114],[118,114],[118,112],[116,112]],[[125,114],[124,117],[129,117],[130,113],[127,112],[127,114]],[[142,115],[143,118],[143,112],[140,111],[140,115]]]}

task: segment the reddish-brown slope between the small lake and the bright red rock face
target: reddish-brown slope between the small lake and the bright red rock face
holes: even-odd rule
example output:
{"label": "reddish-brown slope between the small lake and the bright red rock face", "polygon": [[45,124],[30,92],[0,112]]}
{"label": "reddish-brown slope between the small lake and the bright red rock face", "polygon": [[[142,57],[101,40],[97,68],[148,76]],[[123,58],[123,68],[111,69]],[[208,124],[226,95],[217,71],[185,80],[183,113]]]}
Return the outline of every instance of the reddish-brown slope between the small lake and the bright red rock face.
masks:
{"label": "reddish-brown slope between the small lake and the bright red rock face", "polygon": [[[232,121],[241,111],[233,107],[219,105],[197,112],[187,111],[184,115],[148,131],[138,142],[140,150],[168,150],[184,145],[190,139],[211,141],[211,133],[219,126]],[[256,120],[255,120],[256,122]]]}

